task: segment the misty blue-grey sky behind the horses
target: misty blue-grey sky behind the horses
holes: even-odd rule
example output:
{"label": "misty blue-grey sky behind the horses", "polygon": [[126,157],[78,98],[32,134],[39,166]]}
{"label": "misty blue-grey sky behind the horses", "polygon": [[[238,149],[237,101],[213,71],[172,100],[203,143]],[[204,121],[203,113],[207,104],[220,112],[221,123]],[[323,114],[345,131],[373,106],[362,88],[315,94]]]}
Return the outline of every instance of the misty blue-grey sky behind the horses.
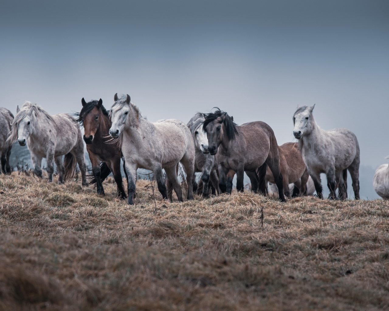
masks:
{"label": "misty blue-grey sky behind the horses", "polygon": [[375,198],[389,155],[388,16],[383,0],[3,0],[0,106],[79,112],[82,97],[109,108],[128,93],[150,121],[217,106],[268,123],[281,145],[296,141],[297,105],[315,103],[321,128],[356,134],[361,197]]}

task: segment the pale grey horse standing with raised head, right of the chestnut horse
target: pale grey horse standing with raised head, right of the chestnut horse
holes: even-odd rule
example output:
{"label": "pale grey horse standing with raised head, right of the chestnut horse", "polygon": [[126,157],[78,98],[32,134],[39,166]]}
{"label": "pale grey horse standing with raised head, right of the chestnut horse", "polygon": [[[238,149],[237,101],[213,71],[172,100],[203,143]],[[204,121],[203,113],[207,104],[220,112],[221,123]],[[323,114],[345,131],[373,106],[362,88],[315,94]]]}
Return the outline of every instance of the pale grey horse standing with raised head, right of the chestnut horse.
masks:
{"label": "pale grey horse standing with raised head, right of the chestnut horse", "polygon": [[359,199],[359,144],[354,133],[348,129],[325,131],[315,122],[311,107],[298,107],[293,115],[293,135],[299,147],[308,173],[312,176],[317,196],[322,198],[320,174],[328,180],[329,199],[347,199],[347,169],[352,179],[355,199]]}

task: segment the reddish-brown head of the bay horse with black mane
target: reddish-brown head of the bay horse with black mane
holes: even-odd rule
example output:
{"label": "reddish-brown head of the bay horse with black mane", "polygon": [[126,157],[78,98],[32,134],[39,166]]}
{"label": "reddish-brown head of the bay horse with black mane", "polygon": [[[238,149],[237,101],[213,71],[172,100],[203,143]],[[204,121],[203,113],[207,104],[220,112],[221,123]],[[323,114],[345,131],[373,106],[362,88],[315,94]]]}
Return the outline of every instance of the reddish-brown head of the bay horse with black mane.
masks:
{"label": "reddish-brown head of the bay horse with black mane", "polygon": [[108,115],[108,113],[102,105],[103,101],[101,98],[99,101],[92,100],[88,103],[82,98],[81,103],[82,109],[76,121],[84,126],[84,141],[90,144],[93,142],[93,138],[95,138],[96,132],[100,127],[103,115]]}

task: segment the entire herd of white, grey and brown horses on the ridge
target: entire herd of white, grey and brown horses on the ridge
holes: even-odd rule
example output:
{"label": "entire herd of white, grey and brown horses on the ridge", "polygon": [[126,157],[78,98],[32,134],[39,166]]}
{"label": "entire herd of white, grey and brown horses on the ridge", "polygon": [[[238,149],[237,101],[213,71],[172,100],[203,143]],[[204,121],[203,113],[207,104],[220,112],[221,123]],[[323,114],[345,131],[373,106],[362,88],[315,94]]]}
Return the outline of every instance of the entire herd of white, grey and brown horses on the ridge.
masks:
{"label": "entire herd of white, grey and brown horses on the ridge", "polygon": [[[277,144],[272,128],[255,121],[237,125],[233,117],[216,108],[196,113],[187,124],[176,119],[150,122],[142,117],[129,95],[114,95],[107,111],[102,100],[81,100],[81,111],[49,115],[37,104],[26,101],[14,115],[0,108],[1,171],[11,173],[12,144],[27,144],[35,175],[42,177],[42,158],[53,181],[54,162],[59,183],[72,180],[78,164],[82,185],[96,183],[97,193],[105,195],[103,180],[112,172],[117,196],[134,203],[137,169],[153,172],[164,199],[183,201],[177,178],[179,164],[186,173],[187,199],[193,191],[204,197],[231,193],[236,175],[237,191],[244,191],[244,173],[251,191],[263,195],[278,192],[279,200],[310,195],[323,198],[320,174],[327,176],[329,199],[347,199],[347,171],[355,199],[359,199],[359,145],[348,129],[321,129],[314,120],[315,106],[298,107],[293,114],[293,135],[298,142]],[[81,134],[84,127],[84,135]],[[87,176],[84,143],[92,165]],[[62,157],[64,159],[62,161]],[[127,179],[127,194],[121,176],[121,160]],[[166,182],[163,174],[165,170]],[[195,174],[201,173],[197,183]],[[373,185],[383,198],[389,198],[389,165],[380,166]]]}

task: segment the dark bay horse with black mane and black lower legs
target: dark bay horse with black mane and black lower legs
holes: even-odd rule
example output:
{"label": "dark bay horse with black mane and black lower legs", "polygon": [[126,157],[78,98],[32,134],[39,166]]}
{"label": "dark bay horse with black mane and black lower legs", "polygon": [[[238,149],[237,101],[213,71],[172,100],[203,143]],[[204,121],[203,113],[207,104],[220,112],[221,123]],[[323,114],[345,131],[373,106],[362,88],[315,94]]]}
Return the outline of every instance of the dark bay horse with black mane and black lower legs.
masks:
{"label": "dark bay horse with black mane and black lower legs", "polygon": [[105,195],[102,182],[112,171],[117,184],[117,196],[125,199],[126,192],[123,188],[123,180],[120,171],[120,159],[122,153],[120,148],[112,143],[108,131],[111,121],[107,110],[103,106],[103,101],[92,100],[86,103],[81,100],[82,109],[76,119],[80,125],[84,126],[84,141],[89,159],[92,164],[93,178],[90,183],[96,183],[97,193]]}

